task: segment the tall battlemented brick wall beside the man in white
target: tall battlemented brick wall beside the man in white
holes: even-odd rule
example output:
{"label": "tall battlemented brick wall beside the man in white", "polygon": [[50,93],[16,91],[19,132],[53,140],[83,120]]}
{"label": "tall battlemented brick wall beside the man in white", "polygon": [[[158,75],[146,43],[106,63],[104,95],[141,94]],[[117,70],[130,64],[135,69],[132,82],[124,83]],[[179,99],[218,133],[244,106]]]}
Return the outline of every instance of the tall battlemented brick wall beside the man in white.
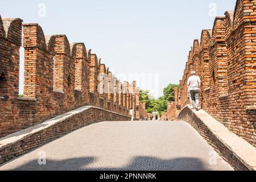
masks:
{"label": "tall battlemented brick wall beside the man in white", "polygon": [[200,106],[229,130],[256,146],[256,1],[238,0],[216,17],[189,52],[180,81],[180,104],[189,103],[187,79],[201,77]]}

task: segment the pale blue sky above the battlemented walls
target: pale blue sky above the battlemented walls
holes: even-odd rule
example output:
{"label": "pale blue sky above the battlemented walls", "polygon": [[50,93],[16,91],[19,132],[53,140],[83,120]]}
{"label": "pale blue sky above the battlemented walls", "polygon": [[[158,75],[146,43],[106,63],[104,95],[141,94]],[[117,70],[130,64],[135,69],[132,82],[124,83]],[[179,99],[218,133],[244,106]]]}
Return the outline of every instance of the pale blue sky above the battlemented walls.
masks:
{"label": "pale blue sky above the battlemented walls", "polygon": [[[38,14],[40,3],[46,5],[45,17]],[[234,10],[235,4],[236,0],[9,0],[1,2],[0,14],[39,23],[45,35],[66,34],[71,43],[84,42],[117,75],[125,74],[130,82],[137,77],[138,86],[159,97],[165,86],[179,83],[193,39],[212,28],[214,15]],[[145,75],[147,84],[141,78],[144,73],[151,74]]]}

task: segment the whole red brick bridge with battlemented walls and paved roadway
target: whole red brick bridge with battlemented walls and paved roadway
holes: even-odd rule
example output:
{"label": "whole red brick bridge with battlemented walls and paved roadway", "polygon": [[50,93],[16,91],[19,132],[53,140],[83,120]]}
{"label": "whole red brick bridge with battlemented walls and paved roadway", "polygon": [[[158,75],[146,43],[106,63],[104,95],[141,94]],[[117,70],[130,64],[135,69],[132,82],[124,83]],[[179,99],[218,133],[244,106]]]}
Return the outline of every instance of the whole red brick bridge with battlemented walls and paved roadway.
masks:
{"label": "whole red brick bridge with battlemented walls and paved roadway", "polygon": [[[120,82],[84,43],[22,22],[0,16],[0,170],[256,169],[255,0],[237,0],[193,42],[162,115],[173,122],[143,122],[136,81]],[[200,111],[188,105],[192,70],[203,81]],[[141,121],[126,122],[130,107]]]}

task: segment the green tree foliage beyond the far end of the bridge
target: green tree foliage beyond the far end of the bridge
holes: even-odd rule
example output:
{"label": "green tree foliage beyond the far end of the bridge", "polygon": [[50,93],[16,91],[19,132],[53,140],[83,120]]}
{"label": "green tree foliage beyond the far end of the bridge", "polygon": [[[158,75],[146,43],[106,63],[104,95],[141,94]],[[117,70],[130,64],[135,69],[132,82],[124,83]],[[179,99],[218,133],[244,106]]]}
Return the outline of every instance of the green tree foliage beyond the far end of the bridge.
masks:
{"label": "green tree foliage beyond the far end of the bridge", "polygon": [[146,112],[152,113],[158,111],[159,114],[165,113],[167,111],[167,102],[174,101],[174,88],[179,88],[179,85],[170,84],[167,88],[164,88],[164,96],[159,97],[156,100],[149,93],[149,90],[140,90],[139,99],[141,102],[146,103]]}

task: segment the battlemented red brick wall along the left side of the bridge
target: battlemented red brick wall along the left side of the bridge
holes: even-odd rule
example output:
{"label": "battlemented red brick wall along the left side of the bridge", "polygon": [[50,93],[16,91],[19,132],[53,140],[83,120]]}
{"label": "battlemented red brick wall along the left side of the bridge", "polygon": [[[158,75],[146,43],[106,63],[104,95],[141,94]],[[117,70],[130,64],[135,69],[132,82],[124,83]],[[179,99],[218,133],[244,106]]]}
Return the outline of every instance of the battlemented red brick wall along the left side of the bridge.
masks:
{"label": "battlemented red brick wall along the left side of the bridge", "polygon": [[[24,97],[18,98],[22,34]],[[134,88],[136,82],[119,82],[84,43],[0,16],[0,138],[85,105],[125,115],[134,105],[139,118]]]}

